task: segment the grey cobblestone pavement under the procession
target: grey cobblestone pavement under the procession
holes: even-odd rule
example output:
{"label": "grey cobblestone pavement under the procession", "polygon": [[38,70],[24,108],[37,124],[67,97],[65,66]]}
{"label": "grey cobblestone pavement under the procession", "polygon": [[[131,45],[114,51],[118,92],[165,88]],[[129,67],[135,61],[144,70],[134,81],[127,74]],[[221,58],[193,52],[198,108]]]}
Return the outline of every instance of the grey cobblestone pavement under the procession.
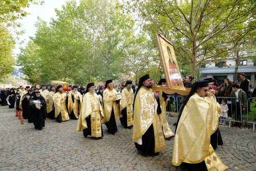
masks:
{"label": "grey cobblestone pavement under the procession", "polygon": [[[171,164],[174,139],[155,157],[138,154],[132,130],[118,122],[116,135],[84,138],[76,132],[77,120],[57,123],[48,119],[42,131],[33,123],[21,125],[14,109],[0,105],[0,170],[182,170]],[[176,117],[168,117],[171,129]],[[256,170],[256,132],[220,126],[224,145],[216,153],[227,170]]]}

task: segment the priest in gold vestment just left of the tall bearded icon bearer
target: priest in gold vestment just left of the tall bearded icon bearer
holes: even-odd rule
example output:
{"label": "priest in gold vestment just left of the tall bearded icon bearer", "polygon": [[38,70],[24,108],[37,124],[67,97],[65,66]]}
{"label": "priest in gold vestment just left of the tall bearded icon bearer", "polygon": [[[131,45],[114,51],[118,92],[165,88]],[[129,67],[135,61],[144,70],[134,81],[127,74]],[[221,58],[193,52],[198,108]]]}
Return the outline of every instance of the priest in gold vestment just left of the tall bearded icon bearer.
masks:
{"label": "priest in gold vestment just left of the tall bearded icon bearer", "polygon": [[133,101],[134,94],[132,89],[132,80],[126,80],[122,90],[122,99],[120,100],[121,115],[120,118],[124,128],[131,129],[133,126]]}

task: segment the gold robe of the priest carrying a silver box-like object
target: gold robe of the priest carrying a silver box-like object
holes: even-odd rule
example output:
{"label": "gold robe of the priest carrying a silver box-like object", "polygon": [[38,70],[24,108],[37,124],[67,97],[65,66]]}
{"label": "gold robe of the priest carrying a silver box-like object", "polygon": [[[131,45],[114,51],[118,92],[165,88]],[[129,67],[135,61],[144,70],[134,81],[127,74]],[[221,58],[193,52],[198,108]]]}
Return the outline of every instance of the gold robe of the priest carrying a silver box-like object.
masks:
{"label": "gold robe of the priest carrying a silver box-like object", "polygon": [[113,101],[113,98],[117,98],[116,94],[117,91],[115,89],[109,90],[107,88],[103,92],[104,119],[102,119],[102,123],[106,123],[110,120],[112,108],[114,109],[115,119],[117,121],[120,110],[118,107],[119,104],[117,104],[116,101]]}

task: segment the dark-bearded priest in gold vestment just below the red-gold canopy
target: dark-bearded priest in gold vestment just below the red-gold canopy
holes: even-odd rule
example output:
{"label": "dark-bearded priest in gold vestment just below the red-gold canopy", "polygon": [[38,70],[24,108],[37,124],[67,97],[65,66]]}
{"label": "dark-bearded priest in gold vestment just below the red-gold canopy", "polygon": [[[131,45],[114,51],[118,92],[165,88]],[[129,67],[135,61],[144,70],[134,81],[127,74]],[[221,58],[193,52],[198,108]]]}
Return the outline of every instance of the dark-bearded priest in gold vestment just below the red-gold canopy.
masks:
{"label": "dark-bearded priest in gold vestment just below the red-gold canopy", "polygon": [[57,86],[55,94],[53,95],[52,99],[55,108],[55,118],[56,121],[59,123],[61,123],[62,121],[69,120],[69,113],[66,108],[66,98],[67,94],[63,92],[62,86]]}

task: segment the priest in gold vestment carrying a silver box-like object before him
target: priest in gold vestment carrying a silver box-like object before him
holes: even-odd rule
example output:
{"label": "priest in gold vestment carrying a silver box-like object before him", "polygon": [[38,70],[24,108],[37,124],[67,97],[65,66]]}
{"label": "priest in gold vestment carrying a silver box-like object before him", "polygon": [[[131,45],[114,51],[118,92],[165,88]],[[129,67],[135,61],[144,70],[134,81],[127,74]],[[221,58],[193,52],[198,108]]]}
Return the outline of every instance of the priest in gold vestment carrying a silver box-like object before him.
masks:
{"label": "priest in gold vestment carrying a silver box-like object before him", "polygon": [[107,80],[105,87],[106,89],[103,92],[104,119],[102,123],[106,124],[110,134],[115,135],[117,132],[116,122],[120,115],[119,100],[117,100],[117,91],[114,89],[112,80]]}

